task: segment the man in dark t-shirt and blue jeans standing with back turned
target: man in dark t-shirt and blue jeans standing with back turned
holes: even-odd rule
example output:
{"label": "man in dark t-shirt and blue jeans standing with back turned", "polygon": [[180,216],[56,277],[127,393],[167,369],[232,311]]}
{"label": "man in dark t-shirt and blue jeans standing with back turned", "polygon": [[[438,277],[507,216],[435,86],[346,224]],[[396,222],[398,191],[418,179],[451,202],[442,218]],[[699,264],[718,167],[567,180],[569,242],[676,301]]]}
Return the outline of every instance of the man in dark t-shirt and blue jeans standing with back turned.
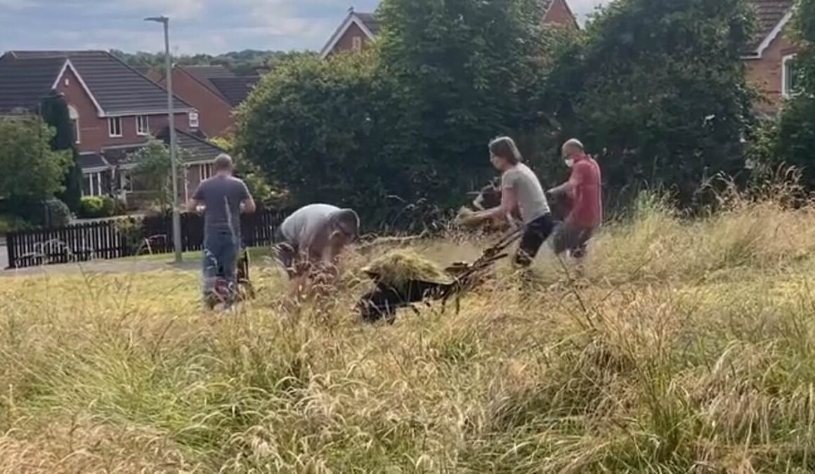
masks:
{"label": "man in dark t-shirt and blue jeans standing with back turned", "polygon": [[[235,287],[235,266],[240,251],[240,213],[255,212],[246,183],[232,176],[231,156],[215,158],[215,176],[200,183],[187,208],[204,208],[204,295],[213,294],[218,278],[226,280],[230,295]],[[226,301],[227,305],[230,301]]]}

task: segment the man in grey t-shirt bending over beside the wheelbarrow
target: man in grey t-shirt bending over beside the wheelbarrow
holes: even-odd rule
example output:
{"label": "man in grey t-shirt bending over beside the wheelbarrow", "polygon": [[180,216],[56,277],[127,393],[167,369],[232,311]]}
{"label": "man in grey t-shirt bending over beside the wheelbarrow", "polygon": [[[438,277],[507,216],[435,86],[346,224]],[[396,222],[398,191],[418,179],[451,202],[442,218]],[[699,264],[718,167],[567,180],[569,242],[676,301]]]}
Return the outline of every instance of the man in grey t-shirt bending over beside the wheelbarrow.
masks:
{"label": "man in grey t-shirt bending over beside the wheelbarrow", "polygon": [[359,216],[353,210],[309,204],[280,225],[276,251],[289,278],[294,279],[315,264],[336,264],[342,249],[358,234]]}

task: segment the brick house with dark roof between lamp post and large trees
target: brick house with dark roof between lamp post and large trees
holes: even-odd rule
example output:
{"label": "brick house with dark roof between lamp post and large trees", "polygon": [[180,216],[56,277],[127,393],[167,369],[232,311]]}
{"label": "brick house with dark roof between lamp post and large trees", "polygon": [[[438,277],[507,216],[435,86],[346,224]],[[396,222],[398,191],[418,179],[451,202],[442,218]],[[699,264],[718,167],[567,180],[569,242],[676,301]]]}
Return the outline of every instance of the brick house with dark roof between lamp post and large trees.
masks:
{"label": "brick house with dark roof between lamp post and large trees", "polygon": [[222,137],[233,131],[235,108],[258,80],[257,75],[239,76],[223,66],[176,66],[173,93],[198,109],[205,136]]}

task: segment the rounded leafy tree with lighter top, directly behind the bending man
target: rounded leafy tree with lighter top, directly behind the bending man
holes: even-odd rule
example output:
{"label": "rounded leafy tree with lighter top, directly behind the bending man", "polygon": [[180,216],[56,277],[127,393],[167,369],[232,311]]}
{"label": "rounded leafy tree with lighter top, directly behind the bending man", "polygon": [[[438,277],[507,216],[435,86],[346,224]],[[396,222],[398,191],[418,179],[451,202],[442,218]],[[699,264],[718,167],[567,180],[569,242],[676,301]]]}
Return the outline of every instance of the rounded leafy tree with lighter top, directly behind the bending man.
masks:
{"label": "rounded leafy tree with lighter top, directly behind the bending man", "polygon": [[241,106],[236,151],[287,189],[381,218],[389,194],[410,177],[398,149],[402,109],[372,55],[281,62]]}

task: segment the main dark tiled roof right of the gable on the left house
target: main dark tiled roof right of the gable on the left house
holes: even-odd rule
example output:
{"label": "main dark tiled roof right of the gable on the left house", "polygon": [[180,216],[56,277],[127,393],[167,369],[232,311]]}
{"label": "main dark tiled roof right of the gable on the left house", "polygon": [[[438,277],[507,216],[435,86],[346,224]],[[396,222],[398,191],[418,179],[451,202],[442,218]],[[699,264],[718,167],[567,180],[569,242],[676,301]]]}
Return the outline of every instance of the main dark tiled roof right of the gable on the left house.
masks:
{"label": "main dark tiled roof right of the gable on the left house", "polygon": [[[156,112],[167,108],[167,91],[107,51],[11,51],[16,59],[68,59],[99,107],[109,115]],[[56,77],[54,78],[54,80]],[[192,106],[176,97],[178,110]]]}

